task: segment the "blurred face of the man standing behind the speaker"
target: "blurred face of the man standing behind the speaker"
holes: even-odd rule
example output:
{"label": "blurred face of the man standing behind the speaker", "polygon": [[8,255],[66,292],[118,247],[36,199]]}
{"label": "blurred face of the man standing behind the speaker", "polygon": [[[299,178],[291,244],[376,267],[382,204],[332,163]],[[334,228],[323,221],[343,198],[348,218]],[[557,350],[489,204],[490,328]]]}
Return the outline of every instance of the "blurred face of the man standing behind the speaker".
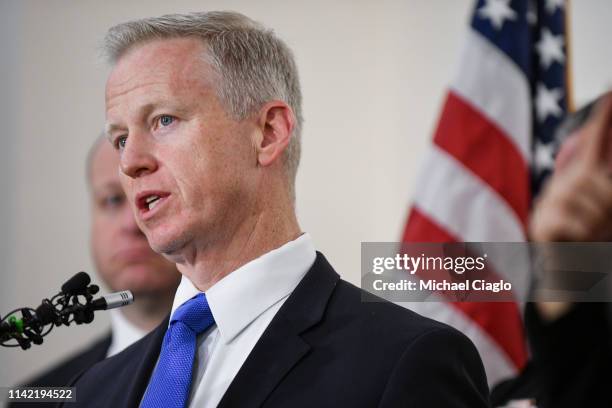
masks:
{"label": "blurred face of the man standing behind the speaker", "polygon": [[138,229],[119,182],[119,155],[103,141],[90,165],[91,249],[98,273],[112,290],[129,289],[137,296],[173,291],[180,274]]}

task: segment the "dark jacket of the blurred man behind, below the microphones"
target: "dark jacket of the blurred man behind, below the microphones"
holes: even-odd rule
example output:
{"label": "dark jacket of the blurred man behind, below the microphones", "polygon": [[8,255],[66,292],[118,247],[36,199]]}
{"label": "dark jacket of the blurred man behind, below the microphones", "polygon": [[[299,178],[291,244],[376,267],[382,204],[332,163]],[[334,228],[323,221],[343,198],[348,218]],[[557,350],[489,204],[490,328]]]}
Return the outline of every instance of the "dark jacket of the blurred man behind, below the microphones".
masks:
{"label": "dark jacket of the blurred man behind, below the microphones", "polygon": [[[66,360],[58,363],[54,367],[46,370],[42,374],[37,375],[35,378],[31,378],[25,381],[21,386],[23,387],[66,387],[70,384],[77,375],[86,369],[90,368],[99,361],[104,360],[106,352],[110,347],[111,334],[104,336],[97,340],[89,348],[68,357]],[[19,402],[7,405],[10,408],[28,408],[37,407],[41,404]],[[49,404],[44,404],[49,406]]]}

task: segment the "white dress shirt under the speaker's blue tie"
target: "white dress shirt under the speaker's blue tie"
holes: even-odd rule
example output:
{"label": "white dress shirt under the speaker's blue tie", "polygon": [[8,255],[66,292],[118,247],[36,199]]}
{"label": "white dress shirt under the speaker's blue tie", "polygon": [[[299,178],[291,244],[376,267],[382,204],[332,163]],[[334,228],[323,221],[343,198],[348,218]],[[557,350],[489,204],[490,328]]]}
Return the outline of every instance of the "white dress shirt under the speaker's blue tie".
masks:
{"label": "white dress shirt under the speaker's blue tie", "polygon": [[[206,291],[215,324],[198,336],[189,407],[216,407],[251,350],[316,258],[302,234]],[[172,313],[200,291],[183,276]]]}

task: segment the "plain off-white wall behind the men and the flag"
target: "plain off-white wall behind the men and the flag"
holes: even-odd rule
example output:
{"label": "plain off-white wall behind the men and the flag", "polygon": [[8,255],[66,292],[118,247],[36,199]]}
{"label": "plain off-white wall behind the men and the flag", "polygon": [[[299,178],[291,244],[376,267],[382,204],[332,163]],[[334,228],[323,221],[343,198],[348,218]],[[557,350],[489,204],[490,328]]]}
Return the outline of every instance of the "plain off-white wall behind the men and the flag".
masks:
{"label": "plain off-white wall behind the men and the flag", "polygon": [[[574,1],[577,102],[612,85],[607,0]],[[36,305],[88,256],[85,153],[104,120],[96,46],[126,19],[232,9],[294,49],[304,91],[298,212],[344,278],[361,241],[400,235],[420,155],[456,64],[469,0],[0,0],[0,314]],[[12,384],[105,330],[59,328],[45,345],[0,349]]]}

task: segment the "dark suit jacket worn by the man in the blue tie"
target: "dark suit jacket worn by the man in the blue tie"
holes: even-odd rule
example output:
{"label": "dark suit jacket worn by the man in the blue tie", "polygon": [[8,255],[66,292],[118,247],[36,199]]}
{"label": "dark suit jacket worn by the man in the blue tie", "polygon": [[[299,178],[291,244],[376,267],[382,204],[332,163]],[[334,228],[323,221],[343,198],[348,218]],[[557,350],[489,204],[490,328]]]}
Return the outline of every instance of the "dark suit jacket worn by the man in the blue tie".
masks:
{"label": "dark suit jacket worn by the man in the blue tie", "polygon": [[[66,407],[136,407],[168,320],[84,373]],[[247,357],[219,407],[488,406],[463,334],[340,279],[320,253]]]}

